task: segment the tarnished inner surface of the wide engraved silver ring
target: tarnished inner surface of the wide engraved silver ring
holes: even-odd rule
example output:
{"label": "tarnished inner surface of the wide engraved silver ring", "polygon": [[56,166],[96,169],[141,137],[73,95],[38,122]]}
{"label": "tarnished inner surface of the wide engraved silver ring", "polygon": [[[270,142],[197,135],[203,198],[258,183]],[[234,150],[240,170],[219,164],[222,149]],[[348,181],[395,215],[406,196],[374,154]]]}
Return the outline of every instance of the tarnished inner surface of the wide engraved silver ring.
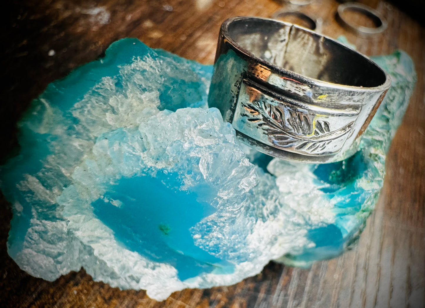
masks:
{"label": "tarnished inner surface of the wide engraved silver ring", "polygon": [[385,83],[385,73],[360,53],[304,28],[246,18],[230,22],[227,32],[254,56],[309,78],[355,87]]}

